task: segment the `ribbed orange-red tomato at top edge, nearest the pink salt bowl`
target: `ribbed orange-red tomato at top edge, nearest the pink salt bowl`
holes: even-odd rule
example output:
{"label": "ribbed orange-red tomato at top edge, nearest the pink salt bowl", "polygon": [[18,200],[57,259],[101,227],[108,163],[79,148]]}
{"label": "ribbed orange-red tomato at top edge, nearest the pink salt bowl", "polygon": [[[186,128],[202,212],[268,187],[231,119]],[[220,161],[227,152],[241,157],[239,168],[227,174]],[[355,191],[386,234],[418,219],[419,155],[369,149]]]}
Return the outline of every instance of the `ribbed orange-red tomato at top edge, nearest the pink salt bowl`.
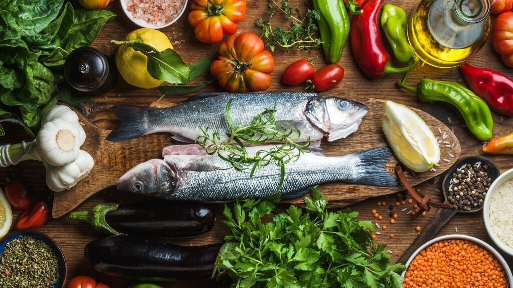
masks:
{"label": "ribbed orange-red tomato at top edge, nearest the pink salt bowl", "polygon": [[198,40],[215,44],[223,40],[224,34],[235,34],[237,23],[245,18],[246,0],[194,0],[189,24]]}

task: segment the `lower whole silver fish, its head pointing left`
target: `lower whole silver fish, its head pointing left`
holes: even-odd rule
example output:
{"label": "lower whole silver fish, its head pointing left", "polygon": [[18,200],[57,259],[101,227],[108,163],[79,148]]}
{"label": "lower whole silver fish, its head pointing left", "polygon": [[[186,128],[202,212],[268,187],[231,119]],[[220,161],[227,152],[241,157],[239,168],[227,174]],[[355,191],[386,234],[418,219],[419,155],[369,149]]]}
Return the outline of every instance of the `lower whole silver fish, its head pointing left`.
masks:
{"label": "lower whole silver fish, its head pointing left", "polygon": [[[275,146],[247,148],[250,155]],[[251,169],[236,170],[217,155],[207,155],[199,146],[171,146],[164,160],[152,159],[132,168],[117,181],[117,189],[168,200],[227,202],[238,198],[261,198],[276,194],[280,167],[272,162],[251,177]],[[282,199],[300,197],[328,182],[370,186],[397,186],[396,178],[384,170],[392,153],[388,148],[371,149],[341,157],[310,152],[285,165]]]}

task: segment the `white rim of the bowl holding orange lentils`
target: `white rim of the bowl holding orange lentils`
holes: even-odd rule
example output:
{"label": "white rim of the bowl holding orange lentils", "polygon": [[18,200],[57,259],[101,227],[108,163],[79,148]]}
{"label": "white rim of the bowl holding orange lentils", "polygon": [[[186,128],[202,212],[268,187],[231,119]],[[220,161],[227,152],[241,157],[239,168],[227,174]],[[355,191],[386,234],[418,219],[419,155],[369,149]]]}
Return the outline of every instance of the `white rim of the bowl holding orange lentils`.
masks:
{"label": "white rim of the bowl holding orange lentils", "polygon": [[507,287],[511,287],[511,284],[513,283],[513,275],[511,275],[511,269],[509,268],[508,263],[506,263],[506,260],[504,260],[504,258],[502,258],[501,254],[499,254],[499,252],[497,252],[497,250],[495,250],[492,246],[490,246],[486,242],[479,240],[478,238],[474,238],[474,237],[470,237],[470,236],[466,236],[466,235],[447,235],[447,236],[438,237],[431,241],[426,242],[419,249],[417,249],[417,251],[415,251],[415,253],[413,253],[413,255],[411,255],[411,257],[408,259],[408,261],[406,262],[406,270],[403,272],[402,276],[404,277],[404,275],[406,275],[409,265],[411,264],[413,259],[415,259],[415,257],[417,257],[417,255],[419,255],[419,253],[421,251],[426,249],[428,246],[431,246],[432,244],[435,244],[437,242],[444,241],[444,240],[467,240],[467,241],[474,242],[474,243],[480,245],[486,251],[493,254],[502,266],[502,271],[504,271],[504,275],[506,276],[506,280],[508,281]]}

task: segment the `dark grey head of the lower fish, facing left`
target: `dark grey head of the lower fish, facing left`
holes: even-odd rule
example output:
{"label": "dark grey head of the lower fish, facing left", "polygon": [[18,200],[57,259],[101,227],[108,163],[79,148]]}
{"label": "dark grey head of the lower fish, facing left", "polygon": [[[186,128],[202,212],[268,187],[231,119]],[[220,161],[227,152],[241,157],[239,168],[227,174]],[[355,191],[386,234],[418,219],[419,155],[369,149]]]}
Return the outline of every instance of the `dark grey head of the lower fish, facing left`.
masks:
{"label": "dark grey head of the lower fish, facing left", "polygon": [[117,190],[162,198],[171,194],[180,177],[164,160],[152,159],[130,169],[117,180]]}

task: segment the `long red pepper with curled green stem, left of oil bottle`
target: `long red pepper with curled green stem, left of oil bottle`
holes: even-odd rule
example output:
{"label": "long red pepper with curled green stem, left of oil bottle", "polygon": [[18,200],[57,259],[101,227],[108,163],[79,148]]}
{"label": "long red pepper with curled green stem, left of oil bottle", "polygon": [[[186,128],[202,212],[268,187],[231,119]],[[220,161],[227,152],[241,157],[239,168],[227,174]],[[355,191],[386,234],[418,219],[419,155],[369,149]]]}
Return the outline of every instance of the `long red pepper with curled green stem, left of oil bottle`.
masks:
{"label": "long red pepper with curled green stem, left of oil bottle", "polygon": [[390,56],[385,50],[378,25],[378,16],[383,0],[368,0],[361,7],[363,14],[352,18],[351,50],[360,68],[371,78],[381,78],[387,74],[404,74],[413,69],[418,62],[404,68],[390,66]]}

